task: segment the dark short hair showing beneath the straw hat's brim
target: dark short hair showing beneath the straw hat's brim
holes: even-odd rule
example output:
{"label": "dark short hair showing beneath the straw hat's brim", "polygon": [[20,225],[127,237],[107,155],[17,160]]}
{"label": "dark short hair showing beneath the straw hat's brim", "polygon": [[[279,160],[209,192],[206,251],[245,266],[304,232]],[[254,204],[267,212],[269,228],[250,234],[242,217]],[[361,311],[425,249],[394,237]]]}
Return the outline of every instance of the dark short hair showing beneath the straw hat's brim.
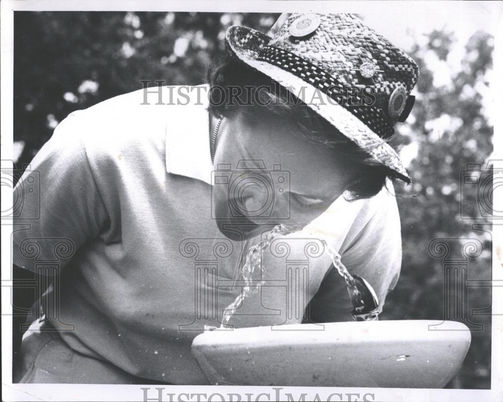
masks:
{"label": "dark short hair showing beneath the straw hat's brim", "polygon": [[355,174],[355,180],[345,189],[346,199],[370,198],[381,191],[386,178],[396,178],[393,170],[375,162],[368,152],[266,74],[227,56],[208,70],[207,79],[208,109],[214,115],[230,118],[239,114],[250,124],[268,118],[294,123],[309,140],[344,157]]}

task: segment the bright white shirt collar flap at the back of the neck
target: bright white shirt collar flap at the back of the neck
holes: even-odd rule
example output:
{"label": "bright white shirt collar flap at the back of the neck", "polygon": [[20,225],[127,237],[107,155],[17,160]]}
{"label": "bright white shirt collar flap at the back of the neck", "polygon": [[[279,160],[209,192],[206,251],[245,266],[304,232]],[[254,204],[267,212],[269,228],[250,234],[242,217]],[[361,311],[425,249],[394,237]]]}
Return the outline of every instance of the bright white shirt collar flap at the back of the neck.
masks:
{"label": "bright white shirt collar flap at the back of the neck", "polygon": [[211,185],[208,90],[208,85],[173,89],[181,104],[170,106],[176,113],[166,127],[166,172]]}

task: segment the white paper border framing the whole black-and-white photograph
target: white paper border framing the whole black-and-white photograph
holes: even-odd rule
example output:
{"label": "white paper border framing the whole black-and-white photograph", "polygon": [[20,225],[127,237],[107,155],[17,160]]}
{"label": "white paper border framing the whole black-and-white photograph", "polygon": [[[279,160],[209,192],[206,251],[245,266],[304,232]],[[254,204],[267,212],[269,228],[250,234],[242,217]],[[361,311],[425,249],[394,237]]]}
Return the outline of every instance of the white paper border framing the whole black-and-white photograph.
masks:
{"label": "white paper border framing the whole black-and-white photograph", "polygon": [[[186,1],[156,1],[156,0],[87,0],[86,2],[74,0],[3,0],[1,7],[1,50],[2,65],[1,76],[1,99],[2,99],[2,120],[0,128],[1,136],[1,156],[2,159],[12,159],[12,141],[13,141],[13,16],[14,10],[19,11],[43,11],[43,10],[78,10],[78,11],[199,11],[199,12],[368,12],[372,3],[375,8],[375,2],[329,2],[329,1],[260,1],[246,0],[241,2],[222,1],[222,0],[192,0]],[[386,1],[382,2],[382,15],[396,15],[396,13],[439,13],[446,12],[446,9],[454,7],[457,12],[469,2],[444,2],[444,1]],[[503,4],[500,2],[478,2],[481,7],[490,10],[493,17],[493,26],[497,25],[495,31],[495,49],[494,52],[494,71],[503,71],[503,23],[501,15]],[[392,11],[392,13],[391,13]],[[494,83],[494,94],[503,93],[503,84],[500,79]],[[501,97],[494,97],[494,110],[503,110]],[[494,116],[494,149],[503,150],[503,136],[501,129],[503,126],[501,113]],[[495,153],[496,159],[503,159],[503,153]],[[5,166],[2,166],[5,168]],[[12,200],[12,193],[2,186],[2,195]],[[494,205],[503,205],[501,192],[494,193]],[[4,204],[5,205],[5,204]],[[11,226],[2,222],[2,286],[9,286],[8,279],[11,275]],[[497,223],[497,222],[495,222]],[[494,225],[493,227],[493,280],[494,285],[503,284],[503,261],[497,261],[496,248],[503,249],[503,225]],[[6,290],[4,288],[3,290]],[[301,392],[307,392],[305,400],[312,400],[316,393],[329,395],[332,392],[342,394],[359,392],[373,393],[373,400],[392,401],[406,400],[417,402],[438,402],[443,400],[455,400],[457,402],[478,402],[478,401],[501,401],[503,400],[503,287],[493,287],[492,292],[492,370],[491,370],[491,389],[490,390],[469,390],[469,389],[407,389],[407,388],[314,388],[314,387],[285,387],[282,392],[292,392],[299,395]],[[2,312],[3,314],[12,312],[10,303],[10,294],[7,291],[2,292]],[[11,332],[6,331],[12,328],[12,319],[9,315],[2,315],[2,349],[3,351],[12,350]],[[141,385],[73,385],[73,384],[11,384],[6,379],[11,378],[11,356],[10,353],[2,353],[2,388],[4,400],[115,400],[129,401],[142,400],[143,394],[140,390]],[[152,390],[160,385],[145,385]],[[224,387],[224,386],[170,386],[164,387],[164,392],[208,392],[208,393],[243,393],[271,392],[274,395],[272,387]],[[311,396],[309,396],[311,395]],[[164,399],[169,400],[169,399]],[[176,400],[176,399],[175,399]],[[219,400],[219,399],[215,399]],[[243,399],[246,400],[246,399]],[[323,399],[321,399],[323,400]],[[339,399],[336,399],[339,400]],[[361,399],[360,399],[361,400]]]}

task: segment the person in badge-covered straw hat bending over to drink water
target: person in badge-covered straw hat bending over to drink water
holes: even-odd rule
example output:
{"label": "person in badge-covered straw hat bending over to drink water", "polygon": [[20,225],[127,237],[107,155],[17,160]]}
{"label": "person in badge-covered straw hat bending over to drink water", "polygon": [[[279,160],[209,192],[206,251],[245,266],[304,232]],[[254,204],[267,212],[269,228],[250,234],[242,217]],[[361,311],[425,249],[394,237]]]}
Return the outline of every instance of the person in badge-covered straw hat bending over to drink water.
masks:
{"label": "person in badge-covered straw hat bending over to drink water", "polygon": [[[409,182],[387,139],[416,64],[346,14],[293,14],[272,38],[230,27],[226,46],[188,102],[157,102],[173,87],[110,99],[72,113],[35,156],[16,188],[40,183],[15,219],[15,272],[59,275],[15,381],[206,383],[192,340],[222,323],[246,251],[278,224],[309,224],[382,309],[401,260],[385,184]],[[279,240],[229,325],[352,319],[321,242]]]}

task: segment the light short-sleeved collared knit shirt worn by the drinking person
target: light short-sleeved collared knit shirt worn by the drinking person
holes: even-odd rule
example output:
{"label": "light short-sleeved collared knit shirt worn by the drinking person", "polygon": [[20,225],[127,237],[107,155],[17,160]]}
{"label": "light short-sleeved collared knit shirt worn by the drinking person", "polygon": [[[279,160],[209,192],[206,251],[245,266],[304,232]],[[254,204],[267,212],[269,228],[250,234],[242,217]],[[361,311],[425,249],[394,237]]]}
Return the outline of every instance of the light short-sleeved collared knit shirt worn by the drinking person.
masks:
{"label": "light short-sleeved collared knit shirt worn by the drinking person", "polygon": [[[165,99],[172,94],[162,89]],[[59,124],[15,190],[23,202],[14,219],[14,263],[61,271],[56,307],[45,314],[72,349],[139,377],[204,384],[192,340],[205,325],[219,326],[240,294],[246,250],[260,236],[235,242],[212,218],[206,97],[191,92],[188,104],[155,103],[145,104],[140,90]],[[401,263],[394,196],[341,197],[310,227],[374,287],[382,308]],[[277,238],[254,273],[263,286],[229,324],[347,319],[345,283],[329,267],[312,235]]]}

